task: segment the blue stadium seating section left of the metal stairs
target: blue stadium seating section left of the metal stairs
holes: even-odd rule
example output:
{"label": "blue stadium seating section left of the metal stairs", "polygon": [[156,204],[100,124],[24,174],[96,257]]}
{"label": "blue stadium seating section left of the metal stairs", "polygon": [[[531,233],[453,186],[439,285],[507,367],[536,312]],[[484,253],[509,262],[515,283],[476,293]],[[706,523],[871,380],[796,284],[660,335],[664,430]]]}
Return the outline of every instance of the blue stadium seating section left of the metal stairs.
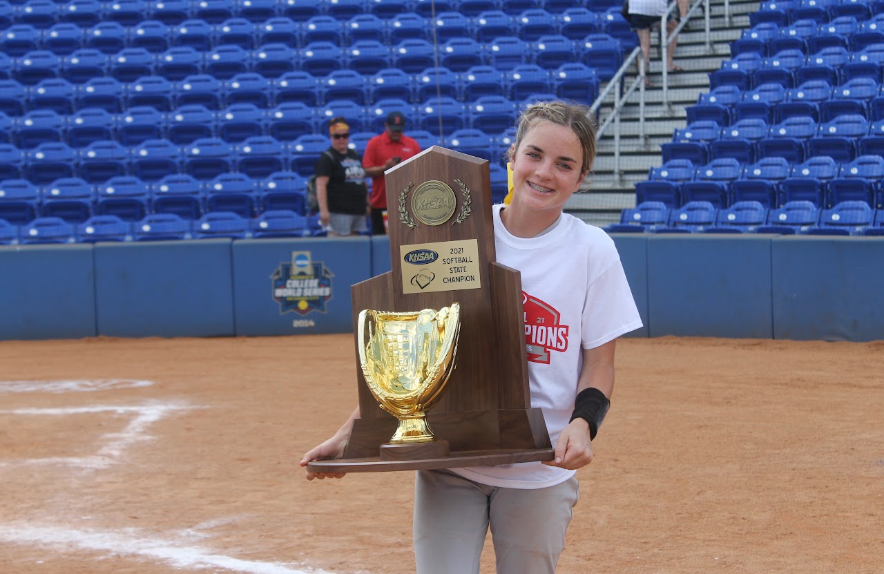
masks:
{"label": "blue stadium seating section left of the metal stairs", "polygon": [[0,243],[314,233],[262,192],[303,192],[330,113],[364,146],[403,111],[422,144],[492,160],[499,200],[517,112],[591,103],[623,23],[619,0],[0,0]]}

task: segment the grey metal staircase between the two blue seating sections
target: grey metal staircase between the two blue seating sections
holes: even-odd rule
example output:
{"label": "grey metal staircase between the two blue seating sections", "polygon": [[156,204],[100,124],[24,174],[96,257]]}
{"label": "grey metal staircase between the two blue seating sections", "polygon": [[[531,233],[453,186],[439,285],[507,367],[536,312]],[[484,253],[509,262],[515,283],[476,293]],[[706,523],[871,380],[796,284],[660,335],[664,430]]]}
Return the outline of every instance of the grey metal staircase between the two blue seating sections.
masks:
{"label": "grey metal staircase between the two blue seating sections", "polygon": [[[750,12],[758,10],[758,0],[710,4],[708,47],[705,18],[700,7],[693,11],[686,29],[679,33],[674,63],[682,66],[684,72],[667,74],[667,103],[664,103],[661,86],[659,30],[652,32],[648,77],[655,87],[644,90],[644,137],[639,126],[640,95],[635,90],[621,110],[619,157],[614,156],[617,124],[612,124],[598,141],[596,160],[589,177],[591,187],[587,193],[572,195],[565,205],[568,213],[594,226],[607,226],[620,220],[622,209],[635,207],[633,184],[646,179],[650,167],[661,164],[660,144],[670,141],[676,128],[685,126],[687,107],[697,103],[700,93],[709,91],[707,74],[719,69],[721,61],[730,57],[730,42],[749,27]],[[636,63],[630,68],[625,74],[626,82],[634,80],[638,73]],[[599,123],[611,115],[613,107],[613,97],[609,95],[598,109]],[[619,171],[615,170],[616,165],[619,165]]]}

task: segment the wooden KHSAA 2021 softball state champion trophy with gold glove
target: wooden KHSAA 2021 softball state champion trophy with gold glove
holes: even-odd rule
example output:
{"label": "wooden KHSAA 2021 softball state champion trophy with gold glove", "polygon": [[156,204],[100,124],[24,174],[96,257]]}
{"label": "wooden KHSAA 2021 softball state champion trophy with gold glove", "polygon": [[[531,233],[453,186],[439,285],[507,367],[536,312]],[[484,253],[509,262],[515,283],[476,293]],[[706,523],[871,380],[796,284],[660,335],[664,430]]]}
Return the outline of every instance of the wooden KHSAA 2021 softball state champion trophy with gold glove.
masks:
{"label": "wooden KHSAA 2021 softball state champion trophy with gold glove", "polygon": [[351,287],[357,392],[315,472],[552,460],[531,408],[522,280],[498,264],[487,160],[438,146],[385,173],[392,270]]}

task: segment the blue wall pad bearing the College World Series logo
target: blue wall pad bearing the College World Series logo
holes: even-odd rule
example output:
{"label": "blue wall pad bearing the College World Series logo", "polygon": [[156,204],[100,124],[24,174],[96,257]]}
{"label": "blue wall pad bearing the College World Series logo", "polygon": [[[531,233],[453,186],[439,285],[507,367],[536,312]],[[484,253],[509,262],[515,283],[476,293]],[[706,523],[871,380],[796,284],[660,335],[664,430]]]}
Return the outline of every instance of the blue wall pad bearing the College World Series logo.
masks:
{"label": "blue wall pad bearing the College World Series logo", "polygon": [[370,277],[371,252],[365,236],[234,241],[236,334],[352,332],[350,286]]}

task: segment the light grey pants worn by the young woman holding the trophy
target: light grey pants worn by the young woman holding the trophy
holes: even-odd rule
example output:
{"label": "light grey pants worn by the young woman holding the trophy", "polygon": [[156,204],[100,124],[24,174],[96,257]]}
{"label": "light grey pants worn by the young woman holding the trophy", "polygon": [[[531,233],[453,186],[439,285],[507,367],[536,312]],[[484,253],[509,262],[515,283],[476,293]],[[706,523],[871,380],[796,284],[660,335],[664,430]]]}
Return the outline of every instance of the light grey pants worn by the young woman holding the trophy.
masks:
{"label": "light grey pants worn by the young woman holding the trophy", "polygon": [[479,574],[489,525],[498,574],[553,574],[578,491],[575,477],[522,489],[482,485],[450,471],[417,471],[417,574]]}

